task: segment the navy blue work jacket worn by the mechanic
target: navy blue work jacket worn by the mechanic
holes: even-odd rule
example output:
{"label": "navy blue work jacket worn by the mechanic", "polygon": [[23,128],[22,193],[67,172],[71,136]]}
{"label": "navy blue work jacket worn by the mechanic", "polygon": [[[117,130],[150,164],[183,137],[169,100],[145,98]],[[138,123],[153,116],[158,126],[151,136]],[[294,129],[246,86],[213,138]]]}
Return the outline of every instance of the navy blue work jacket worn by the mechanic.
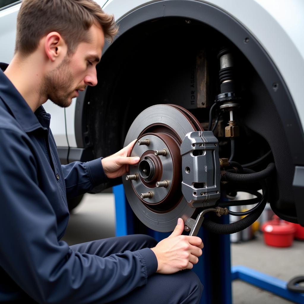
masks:
{"label": "navy blue work jacket worn by the mechanic", "polygon": [[101,158],[61,165],[49,126],[50,114],[33,113],[0,70],[0,302],[110,302],[146,284],[156,257],[145,248],[102,258],[60,240],[67,198],[106,176]]}

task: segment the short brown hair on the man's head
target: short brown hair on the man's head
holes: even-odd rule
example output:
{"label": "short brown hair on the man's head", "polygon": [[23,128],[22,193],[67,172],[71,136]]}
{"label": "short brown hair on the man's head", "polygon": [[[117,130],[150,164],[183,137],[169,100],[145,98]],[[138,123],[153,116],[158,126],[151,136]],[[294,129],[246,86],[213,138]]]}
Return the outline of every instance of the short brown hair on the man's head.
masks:
{"label": "short brown hair on the man's head", "polygon": [[86,40],[86,31],[94,23],[112,42],[118,32],[114,16],[103,12],[93,0],[23,0],[17,18],[15,53],[31,54],[43,36],[58,32],[71,54]]}

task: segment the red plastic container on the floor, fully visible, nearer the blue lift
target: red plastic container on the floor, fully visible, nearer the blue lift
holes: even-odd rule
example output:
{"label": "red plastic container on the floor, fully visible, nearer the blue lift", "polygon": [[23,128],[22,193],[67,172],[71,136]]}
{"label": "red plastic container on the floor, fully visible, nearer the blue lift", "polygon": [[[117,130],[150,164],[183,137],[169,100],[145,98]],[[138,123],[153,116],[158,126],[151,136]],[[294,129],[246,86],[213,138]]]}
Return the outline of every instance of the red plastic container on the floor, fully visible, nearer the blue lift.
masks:
{"label": "red plastic container on the floor, fully visible, nearer the blue lift", "polygon": [[279,219],[274,215],[272,220],[265,222],[261,230],[264,234],[264,242],[269,246],[289,247],[292,245],[295,235],[295,225]]}

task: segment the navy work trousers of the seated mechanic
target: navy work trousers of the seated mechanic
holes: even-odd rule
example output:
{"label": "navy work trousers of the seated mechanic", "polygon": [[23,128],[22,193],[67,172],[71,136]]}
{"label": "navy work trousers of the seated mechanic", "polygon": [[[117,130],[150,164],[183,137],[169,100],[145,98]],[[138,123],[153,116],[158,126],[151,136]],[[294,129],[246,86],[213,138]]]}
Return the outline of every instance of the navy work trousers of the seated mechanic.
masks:
{"label": "navy work trousers of the seated mechanic", "polygon": [[[111,254],[152,248],[157,244],[153,237],[143,234],[111,237],[70,246],[82,254],[107,257]],[[146,285],[135,288],[124,297],[111,304],[195,304],[202,295],[203,286],[198,276],[191,270],[183,270],[171,275],[154,274]]]}

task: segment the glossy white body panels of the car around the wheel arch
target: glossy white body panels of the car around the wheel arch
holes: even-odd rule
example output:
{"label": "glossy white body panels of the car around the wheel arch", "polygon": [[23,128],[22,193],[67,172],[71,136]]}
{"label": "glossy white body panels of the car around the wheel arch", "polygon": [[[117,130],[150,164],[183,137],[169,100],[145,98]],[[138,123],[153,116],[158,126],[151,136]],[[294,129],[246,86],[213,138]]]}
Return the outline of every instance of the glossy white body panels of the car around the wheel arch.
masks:
{"label": "glossy white body panels of the car around the wheel arch", "polygon": [[[119,21],[130,12],[157,1],[99,0],[96,2],[106,13],[114,14],[115,20]],[[304,128],[302,95],[304,2],[301,0],[292,2],[284,0],[213,0],[202,2],[214,5],[228,13],[259,41],[288,86],[302,128]],[[21,3],[18,3],[0,11],[0,38],[2,41],[0,60],[2,62],[9,63],[14,54],[16,19],[20,6]],[[77,147],[74,128],[75,103],[76,100],[67,109],[61,109],[50,101],[43,105],[52,116],[50,126],[59,147]]]}

